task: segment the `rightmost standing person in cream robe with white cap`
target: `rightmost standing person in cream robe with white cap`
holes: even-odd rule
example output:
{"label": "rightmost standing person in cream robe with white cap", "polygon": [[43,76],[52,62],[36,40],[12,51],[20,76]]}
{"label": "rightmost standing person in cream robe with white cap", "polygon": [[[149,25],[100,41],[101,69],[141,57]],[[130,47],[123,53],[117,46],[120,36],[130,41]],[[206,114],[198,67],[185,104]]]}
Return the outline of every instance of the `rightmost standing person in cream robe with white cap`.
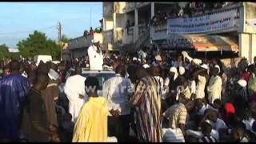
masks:
{"label": "rightmost standing person in cream robe with white cap", "polygon": [[214,103],[215,99],[221,99],[222,95],[222,78],[218,76],[220,68],[218,65],[214,66],[213,75],[210,78],[209,86],[207,87],[208,102]]}

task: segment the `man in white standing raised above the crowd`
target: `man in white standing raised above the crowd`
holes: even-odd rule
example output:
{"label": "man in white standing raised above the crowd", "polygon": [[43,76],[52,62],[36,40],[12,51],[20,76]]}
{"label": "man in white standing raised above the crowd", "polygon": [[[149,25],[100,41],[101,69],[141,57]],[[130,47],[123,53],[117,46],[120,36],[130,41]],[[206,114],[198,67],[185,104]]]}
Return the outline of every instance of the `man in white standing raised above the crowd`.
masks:
{"label": "man in white standing raised above the crowd", "polygon": [[90,70],[102,70],[103,55],[99,46],[99,40],[94,38],[91,42],[92,45],[87,50],[89,55]]}

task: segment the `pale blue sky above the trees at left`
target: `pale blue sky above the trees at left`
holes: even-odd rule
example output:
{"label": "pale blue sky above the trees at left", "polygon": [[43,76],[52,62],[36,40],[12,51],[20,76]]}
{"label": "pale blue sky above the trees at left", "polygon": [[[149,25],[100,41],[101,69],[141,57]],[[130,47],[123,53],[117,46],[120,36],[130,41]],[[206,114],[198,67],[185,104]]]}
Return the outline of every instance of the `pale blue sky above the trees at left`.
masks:
{"label": "pale blue sky above the trees at left", "polygon": [[82,36],[91,26],[100,26],[102,2],[0,2],[0,45],[16,48],[34,30],[58,39],[58,22],[68,38]]}

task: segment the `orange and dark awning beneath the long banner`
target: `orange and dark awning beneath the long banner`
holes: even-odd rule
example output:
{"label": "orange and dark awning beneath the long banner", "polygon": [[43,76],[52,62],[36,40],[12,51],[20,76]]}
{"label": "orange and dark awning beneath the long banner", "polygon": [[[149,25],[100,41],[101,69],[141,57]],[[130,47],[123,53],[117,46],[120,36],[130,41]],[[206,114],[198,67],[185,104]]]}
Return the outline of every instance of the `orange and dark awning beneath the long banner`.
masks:
{"label": "orange and dark awning beneath the long banner", "polygon": [[191,48],[197,51],[239,51],[234,38],[206,34],[171,34],[170,48]]}

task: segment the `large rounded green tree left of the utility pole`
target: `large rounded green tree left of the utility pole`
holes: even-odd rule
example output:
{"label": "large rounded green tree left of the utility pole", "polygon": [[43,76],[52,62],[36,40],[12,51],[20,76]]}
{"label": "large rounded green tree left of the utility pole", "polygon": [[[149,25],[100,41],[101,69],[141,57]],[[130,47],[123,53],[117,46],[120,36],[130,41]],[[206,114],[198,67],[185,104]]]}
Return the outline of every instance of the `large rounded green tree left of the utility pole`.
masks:
{"label": "large rounded green tree left of the utility pole", "polygon": [[38,54],[51,55],[54,59],[60,58],[58,44],[37,30],[33,34],[29,34],[25,40],[18,42],[17,46],[24,58],[34,58]]}

